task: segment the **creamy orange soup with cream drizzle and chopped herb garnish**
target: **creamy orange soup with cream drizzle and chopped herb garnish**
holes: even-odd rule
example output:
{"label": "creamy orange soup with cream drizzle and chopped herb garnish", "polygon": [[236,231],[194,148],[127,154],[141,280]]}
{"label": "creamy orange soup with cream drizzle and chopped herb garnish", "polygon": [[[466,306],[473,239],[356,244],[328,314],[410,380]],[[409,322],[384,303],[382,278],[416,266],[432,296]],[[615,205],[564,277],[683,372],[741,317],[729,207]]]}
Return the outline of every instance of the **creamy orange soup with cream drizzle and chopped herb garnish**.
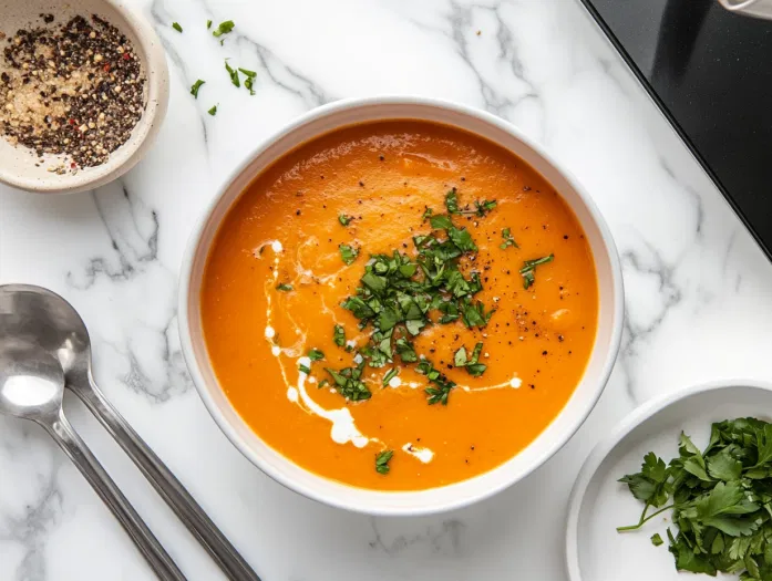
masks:
{"label": "creamy orange soup with cream drizzle and chopped herb garnish", "polygon": [[255,433],[378,490],[480,475],[581,378],[598,288],[583,230],[522,159],[418,121],[348,127],[259,175],[202,289],[208,354]]}

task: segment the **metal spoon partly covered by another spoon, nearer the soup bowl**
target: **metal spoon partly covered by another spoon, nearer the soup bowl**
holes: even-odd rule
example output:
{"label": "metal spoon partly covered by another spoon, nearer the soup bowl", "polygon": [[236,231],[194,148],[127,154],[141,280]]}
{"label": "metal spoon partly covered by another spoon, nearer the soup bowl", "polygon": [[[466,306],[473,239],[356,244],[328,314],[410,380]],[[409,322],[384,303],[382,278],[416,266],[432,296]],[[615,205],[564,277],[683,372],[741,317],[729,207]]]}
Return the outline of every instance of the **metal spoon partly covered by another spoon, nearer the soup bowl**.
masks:
{"label": "metal spoon partly covered by another spoon, nearer the soup bowl", "polygon": [[83,401],[134,460],[228,579],[260,581],[179,480],[96,387],[91,373],[89,331],[69,302],[40,287],[0,286],[0,329],[7,334],[27,338],[59,359],[66,387]]}

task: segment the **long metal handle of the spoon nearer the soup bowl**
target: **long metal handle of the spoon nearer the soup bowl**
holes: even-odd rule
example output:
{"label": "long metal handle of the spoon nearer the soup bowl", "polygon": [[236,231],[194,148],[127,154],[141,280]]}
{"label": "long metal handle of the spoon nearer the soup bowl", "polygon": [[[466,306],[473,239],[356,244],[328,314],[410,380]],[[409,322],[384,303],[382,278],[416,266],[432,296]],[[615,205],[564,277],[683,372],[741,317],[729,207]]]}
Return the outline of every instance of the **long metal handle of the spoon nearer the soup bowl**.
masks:
{"label": "long metal handle of the spoon nearer the soup bowl", "polygon": [[153,488],[208,551],[227,578],[231,581],[260,581],[257,573],[230,544],[182,483],[102,395],[91,376],[88,378],[88,386],[85,383],[84,378],[68,386],[78,394],[128,457],[134,460]]}

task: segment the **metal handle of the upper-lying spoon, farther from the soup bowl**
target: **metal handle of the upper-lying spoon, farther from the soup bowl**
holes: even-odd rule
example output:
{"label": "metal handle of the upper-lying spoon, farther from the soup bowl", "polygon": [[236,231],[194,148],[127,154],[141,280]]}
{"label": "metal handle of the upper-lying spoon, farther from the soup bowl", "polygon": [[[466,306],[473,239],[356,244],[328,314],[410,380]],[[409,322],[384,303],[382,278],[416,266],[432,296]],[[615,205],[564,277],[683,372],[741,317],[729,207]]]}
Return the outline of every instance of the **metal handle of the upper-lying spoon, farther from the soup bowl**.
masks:
{"label": "metal handle of the upper-lying spoon, farther from the soup bowl", "polygon": [[134,510],[128,499],[123,496],[112,478],[104,470],[96,457],[60,411],[59,417],[51,424],[42,424],[56,440],[64,453],[78,466],[107,508],[115,515],[134,543],[162,581],[186,581],[185,575],[174,563],[169,554],[155,538],[142,517]]}

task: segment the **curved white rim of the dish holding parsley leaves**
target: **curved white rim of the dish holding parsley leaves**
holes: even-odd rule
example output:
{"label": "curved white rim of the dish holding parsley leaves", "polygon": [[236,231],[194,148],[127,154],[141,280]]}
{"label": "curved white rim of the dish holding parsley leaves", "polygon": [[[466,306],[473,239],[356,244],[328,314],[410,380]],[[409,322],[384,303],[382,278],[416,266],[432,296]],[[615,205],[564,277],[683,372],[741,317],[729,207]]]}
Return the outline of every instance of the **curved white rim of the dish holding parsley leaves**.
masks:
{"label": "curved white rim of the dish holding parsley leaves", "polygon": [[622,417],[606,437],[595,445],[587,455],[587,458],[585,458],[568,497],[566,533],[564,537],[564,559],[569,581],[586,581],[581,577],[581,569],[579,567],[579,513],[589,488],[589,483],[606,457],[611,454],[621,440],[635,428],[660,412],[663,412],[667,407],[688,397],[692,397],[693,395],[731,390],[733,387],[753,387],[772,392],[772,382],[752,378],[727,378],[702,382],[676,390],[675,392],[660,395],[636,407],[632,412]]}

